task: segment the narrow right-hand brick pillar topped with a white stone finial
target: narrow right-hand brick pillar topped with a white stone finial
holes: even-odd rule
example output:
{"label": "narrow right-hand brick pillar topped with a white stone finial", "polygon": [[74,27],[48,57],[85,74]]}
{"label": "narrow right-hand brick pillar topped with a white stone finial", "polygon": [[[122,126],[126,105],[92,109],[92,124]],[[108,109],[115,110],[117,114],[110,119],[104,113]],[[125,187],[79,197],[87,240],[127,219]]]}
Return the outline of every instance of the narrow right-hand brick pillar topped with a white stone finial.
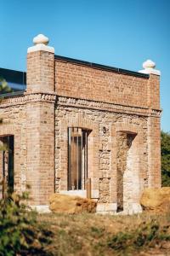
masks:
{"label": "narrow right-hand brick pillar topped with a white stone finial", "polygon": [[150,74],[148,80],[148,169],[149,187],[161,186],[161,128],[160,128],[160,71],[156,70],[153,61],[143,63],[141,73]]}

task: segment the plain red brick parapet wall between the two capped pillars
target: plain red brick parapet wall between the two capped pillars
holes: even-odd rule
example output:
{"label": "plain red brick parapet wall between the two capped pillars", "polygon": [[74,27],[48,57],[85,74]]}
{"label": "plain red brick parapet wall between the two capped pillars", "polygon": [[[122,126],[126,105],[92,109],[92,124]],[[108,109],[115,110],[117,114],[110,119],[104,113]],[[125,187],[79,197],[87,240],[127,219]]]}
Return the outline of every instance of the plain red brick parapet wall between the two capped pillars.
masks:
{"label": "plain red brick parapet wall between the two capped pillars", "polygon": [[[59,96],[147,108],[148,81],[145,78],[55,60],[55,91]],[[150,84],[151,91],[152,87]],[[156,96],[155,102],[158,101]]]}

